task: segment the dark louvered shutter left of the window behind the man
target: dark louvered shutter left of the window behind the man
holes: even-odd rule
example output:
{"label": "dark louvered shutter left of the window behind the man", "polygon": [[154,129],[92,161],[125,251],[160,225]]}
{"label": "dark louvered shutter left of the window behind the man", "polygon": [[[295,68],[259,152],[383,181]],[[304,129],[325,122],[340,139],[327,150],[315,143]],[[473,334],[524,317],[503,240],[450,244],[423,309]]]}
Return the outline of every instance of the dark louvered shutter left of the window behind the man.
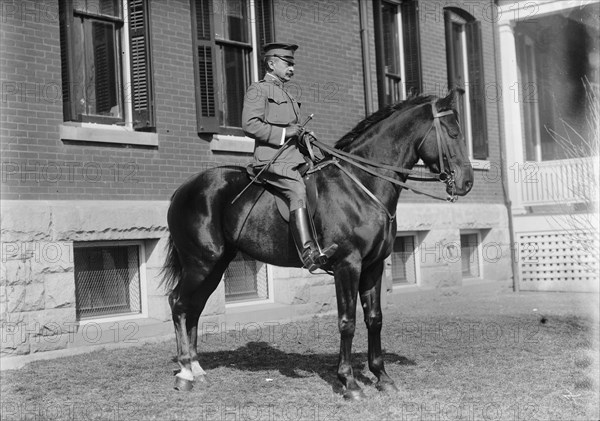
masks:
{"label": "dark louvered shutter left of the window behind the man", "polygon": [[216,44],[211,0],[191,0],[198,133],[217,133]]}

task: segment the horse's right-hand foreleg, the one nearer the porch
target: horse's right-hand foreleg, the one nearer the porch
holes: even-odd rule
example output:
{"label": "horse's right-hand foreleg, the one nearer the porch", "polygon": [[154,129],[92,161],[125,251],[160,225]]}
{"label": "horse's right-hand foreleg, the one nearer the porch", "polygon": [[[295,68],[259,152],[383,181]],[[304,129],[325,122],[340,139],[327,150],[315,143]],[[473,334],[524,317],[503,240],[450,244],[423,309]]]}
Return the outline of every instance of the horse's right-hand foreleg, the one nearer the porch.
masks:
{"label": "horse's right-hand foreleg, the one nearer the porch", "polygon": [[376,387],[382,391],[396,391],[394,381],[385,372],[381,351],[381,275],[383,261],[365,269],[360,279],[360,301],[369,332],[369,370],[377,377]]}

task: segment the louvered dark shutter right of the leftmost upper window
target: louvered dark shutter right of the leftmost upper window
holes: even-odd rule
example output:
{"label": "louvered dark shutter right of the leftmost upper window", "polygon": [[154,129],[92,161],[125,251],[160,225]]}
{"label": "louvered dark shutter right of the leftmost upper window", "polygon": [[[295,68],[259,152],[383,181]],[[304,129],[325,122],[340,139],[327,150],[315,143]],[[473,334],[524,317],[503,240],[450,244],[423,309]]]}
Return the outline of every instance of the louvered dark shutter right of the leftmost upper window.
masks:
{"label": "louvered dark shutter right of the leftmost upper window", "polygon": [[147,0],[128,2],[132,120],[136,130],[155,127],[148,3]]}

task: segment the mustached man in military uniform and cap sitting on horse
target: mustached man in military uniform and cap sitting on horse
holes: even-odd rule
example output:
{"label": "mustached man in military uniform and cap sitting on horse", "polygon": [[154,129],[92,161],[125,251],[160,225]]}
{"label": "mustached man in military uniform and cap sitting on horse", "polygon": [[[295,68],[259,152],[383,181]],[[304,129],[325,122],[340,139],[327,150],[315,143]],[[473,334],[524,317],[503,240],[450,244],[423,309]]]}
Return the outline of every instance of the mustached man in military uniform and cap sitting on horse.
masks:
{"label": "mustached man in military uniform and cap sitting on horse", "polygon": [[[290,138],[281,155],[261,175],[275,187],[290,207],[290,229],[304,267],[311,272],[333,255],[337,245],[321,250],[312,234],[310,214],[306,208],[306,187],[297,166],[304,158],[298,141],[304,135],[299,124],[300,104],[284,89],[294,75],[294,44],[271,43],[264,46],[265,77],[248,87],[244,97],[242,127],[255,140],[254,167],[260,170]],[[294,142],[295,140],[295,142]]]}

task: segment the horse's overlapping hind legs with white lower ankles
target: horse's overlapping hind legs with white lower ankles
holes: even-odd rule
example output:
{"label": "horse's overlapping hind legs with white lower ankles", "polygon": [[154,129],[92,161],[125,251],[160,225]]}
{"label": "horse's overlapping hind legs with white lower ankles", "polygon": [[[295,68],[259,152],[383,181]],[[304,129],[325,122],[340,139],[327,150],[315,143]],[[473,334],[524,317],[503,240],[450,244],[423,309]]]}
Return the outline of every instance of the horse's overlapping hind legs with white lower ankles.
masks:
{"label": "horse's overlapping hind legs with white lower ankles", "polygon": [[169,296],[180,366],[175,379],[175,388],[178,390],[190,390],[192,381],[204,380],[205,373],[198,361],[197,351],[198,319],[234,256],[235,251],[227,251],[217,261],[195,261],[183,265],[183,278]]}

